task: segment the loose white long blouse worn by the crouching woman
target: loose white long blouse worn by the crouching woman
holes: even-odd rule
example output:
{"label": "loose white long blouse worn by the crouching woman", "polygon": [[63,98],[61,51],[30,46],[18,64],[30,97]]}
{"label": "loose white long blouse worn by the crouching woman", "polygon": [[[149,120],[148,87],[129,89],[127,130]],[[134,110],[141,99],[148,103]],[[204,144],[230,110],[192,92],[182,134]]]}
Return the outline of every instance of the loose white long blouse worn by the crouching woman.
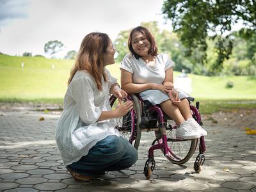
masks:
{"label": "loose white long blouse worn by the crouching woman", "polygon": [[102,111],[111,111],[109,90],[116,83],[105,68],[108,81],[102,77],[102,91],[94,78],[78,70],[68,85],[64,107],[56,129],[56,142],[65,166],[86,156],[97,141],[106,136],[120,136],[113,119],[97,122]]}

